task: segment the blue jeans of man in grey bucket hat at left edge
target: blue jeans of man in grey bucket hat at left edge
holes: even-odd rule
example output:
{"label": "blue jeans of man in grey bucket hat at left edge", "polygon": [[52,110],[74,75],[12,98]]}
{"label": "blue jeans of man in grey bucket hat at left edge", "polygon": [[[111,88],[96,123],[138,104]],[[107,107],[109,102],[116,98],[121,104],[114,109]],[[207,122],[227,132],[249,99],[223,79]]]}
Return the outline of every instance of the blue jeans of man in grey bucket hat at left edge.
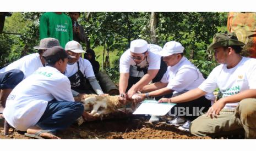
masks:
{"label": "blue jeans of man in grey bucket hat at left edge", "polygon": [[23,80],[24,74],[19,69],[0,73],[0,89],[13,89]]}

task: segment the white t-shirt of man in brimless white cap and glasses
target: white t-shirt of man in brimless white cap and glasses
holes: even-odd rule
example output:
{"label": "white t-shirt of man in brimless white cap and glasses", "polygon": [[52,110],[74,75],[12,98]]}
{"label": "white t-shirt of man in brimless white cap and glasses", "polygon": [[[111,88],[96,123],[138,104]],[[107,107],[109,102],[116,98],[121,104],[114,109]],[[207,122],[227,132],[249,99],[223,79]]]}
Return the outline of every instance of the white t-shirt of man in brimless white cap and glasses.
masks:
{"label": "white t-shirt of man in brimless white cap and glasses", "polygon": [[[148,70],[149,69],[160,69],[161,56],[156,53],[161,51],[162,48],[155,44],[148,44],[148,48],[149,48],[149,50],[148,50],[149,55],[147,57],[147,61],[149,64],[147,65],[146,60],[143,60],[137,66],[139,66],[141,68],[148,66]],[[120,58],[120,64],[119,64],[120,73],[129,73],[130,66],[135,66],[135,65],[136,65],[136,63],[134,62],[134,60],[132,59],[132,57],[130,55],[130,49],[126,50]]]}

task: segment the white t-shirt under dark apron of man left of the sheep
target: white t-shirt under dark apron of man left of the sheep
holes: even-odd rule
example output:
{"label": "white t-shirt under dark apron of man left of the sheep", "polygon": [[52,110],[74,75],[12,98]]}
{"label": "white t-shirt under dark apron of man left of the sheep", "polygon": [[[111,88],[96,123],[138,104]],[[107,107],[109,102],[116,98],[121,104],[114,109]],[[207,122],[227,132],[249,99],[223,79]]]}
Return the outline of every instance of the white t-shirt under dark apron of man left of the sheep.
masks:
{"label": "white t-shirt under dark apron of man left of the sheep", "polygon": [[[79,66],[80,66],[80,71],[81,71],[81,73],[84,74],[84,77],[86,77],[86,78],[95,77],[94,69],[92,68],[91,62],[89,60],[86,60],[86,59],[83,59],[80,57],[78,62],[79,62]],[[67,77],[71,77],[76,72],[78,72],[77,62],[75,62],[73,65],[67,65],[67,69],[65,71],[65,75]]]}

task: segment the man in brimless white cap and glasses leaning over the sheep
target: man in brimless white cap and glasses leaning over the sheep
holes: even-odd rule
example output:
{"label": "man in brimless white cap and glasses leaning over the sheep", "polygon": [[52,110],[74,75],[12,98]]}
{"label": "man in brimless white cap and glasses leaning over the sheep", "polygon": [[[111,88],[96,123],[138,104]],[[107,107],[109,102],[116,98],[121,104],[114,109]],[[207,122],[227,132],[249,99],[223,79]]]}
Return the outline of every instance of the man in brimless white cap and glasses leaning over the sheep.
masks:
{"label": "man in brimless white cap and glasses leaning over the sheep", "polygon": [[151,80],[160,81],[167,68],[164,62],[161,63],[161,56],[157,55],[161,50],[158,45],[148,44],[143,39],[136,39],[130,43],[130,48],[120,59],[119,93],[122,97],[119,100],[121,102],[125,103],[127,97],[131,98]]}

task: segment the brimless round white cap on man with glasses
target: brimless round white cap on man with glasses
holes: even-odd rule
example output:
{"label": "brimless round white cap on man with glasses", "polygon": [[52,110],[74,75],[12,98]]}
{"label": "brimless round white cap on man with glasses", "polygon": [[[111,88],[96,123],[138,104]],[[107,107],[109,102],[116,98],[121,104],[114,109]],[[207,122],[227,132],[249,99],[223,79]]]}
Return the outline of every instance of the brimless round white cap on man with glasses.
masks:
{"label": "brimless round white cap on man with glasses", "polygon": [[136,39],[130,43],[130,52],[135,54],[142,54],[148,50],[148,43],[143,39]]}

